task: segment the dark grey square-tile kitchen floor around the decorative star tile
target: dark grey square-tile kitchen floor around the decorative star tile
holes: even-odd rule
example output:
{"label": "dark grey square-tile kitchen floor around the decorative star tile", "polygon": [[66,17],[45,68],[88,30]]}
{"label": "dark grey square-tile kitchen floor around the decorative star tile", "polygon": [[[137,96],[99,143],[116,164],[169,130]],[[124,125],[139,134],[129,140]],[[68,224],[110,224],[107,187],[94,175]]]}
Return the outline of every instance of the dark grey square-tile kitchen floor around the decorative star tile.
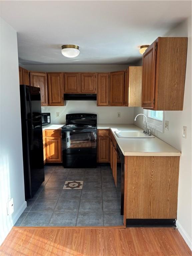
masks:
{"label": "dark grey square-tile kitchen floor around the decorative star tile", "polygon": [[[66,181],[83,181],[82,189],[63,189]],[[45,166],[45,181],[27,200],[15,226],[119,226],[123,225],[119,205],[109,166]]]}

